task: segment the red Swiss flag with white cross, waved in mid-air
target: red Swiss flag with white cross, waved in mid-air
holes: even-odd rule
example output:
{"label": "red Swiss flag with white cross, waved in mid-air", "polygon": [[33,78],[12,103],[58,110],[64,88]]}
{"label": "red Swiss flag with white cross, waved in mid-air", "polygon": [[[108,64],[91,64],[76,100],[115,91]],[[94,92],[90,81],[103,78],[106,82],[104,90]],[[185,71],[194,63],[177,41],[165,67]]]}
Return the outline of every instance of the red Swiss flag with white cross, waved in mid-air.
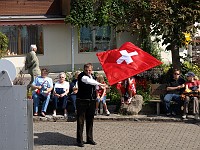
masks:
{"label": "red Swiss flag with white cross, waved in mid-air", "polygon": [[96,55],[110,85],[162,64],[131,42],[124,43],[119,49]]}

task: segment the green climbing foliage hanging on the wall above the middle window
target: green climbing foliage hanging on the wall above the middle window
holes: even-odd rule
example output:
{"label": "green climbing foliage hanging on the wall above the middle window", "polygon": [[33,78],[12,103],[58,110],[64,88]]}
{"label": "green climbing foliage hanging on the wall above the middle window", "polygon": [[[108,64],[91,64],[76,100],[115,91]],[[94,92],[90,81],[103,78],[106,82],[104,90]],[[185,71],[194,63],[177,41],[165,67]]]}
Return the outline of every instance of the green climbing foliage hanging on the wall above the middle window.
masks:
{"label": "green climbing foliage hanging on the wall above the middle window", "polygon": [[123,0],[71,0],[70,15],[66,23],[73,26],[123,26],[128,23],[132,14],[131,5]]}

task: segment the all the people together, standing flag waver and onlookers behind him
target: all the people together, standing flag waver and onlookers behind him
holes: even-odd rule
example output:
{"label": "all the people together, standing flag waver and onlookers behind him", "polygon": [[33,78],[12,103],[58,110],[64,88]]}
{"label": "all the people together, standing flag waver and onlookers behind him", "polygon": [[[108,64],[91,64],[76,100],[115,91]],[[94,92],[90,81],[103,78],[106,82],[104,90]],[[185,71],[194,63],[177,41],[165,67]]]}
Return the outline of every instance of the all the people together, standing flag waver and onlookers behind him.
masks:
{"label": "all the people together, standing flag waver and onlookers behind him", "polygon": [[[37,47],[31,45],[30,53],[27,54],[25,69],[31,75],[31,81],[27,86],[33,90],[32,98],[34,102],[34,116],[38,116],[38,106],[42,101],[41,116],[45,117],[47,107],[52,96],[53,112],[52,116],[56,117],[59,106],[63,109],[63,115],[68,117],[67,103],[71,100],[73,104],[73,112],[77,118],[77,145],[84,147],[83,128],[86,121],[86,144],[96,145],[93,140],[93,120],[94,116],[99,113],[99,103],[103,103],[106,115],[110,112],[106,104],[106,88],[108,85],[104,81],[104,76],[92,74],[93,66],[87,63],[83,67],[83,71],[75,72],[74,79],[66,81],[66,74],[60,72],[58,81],[48,77],[48,69],[43,68],[40,71],[39,61],[36,56]],[[167,116],[175,116],[182,111],[182,118],[187,118],[188,105],[193,103],[193,114],[195,119],[199,118],[199,92],[200,81],[193,72],[188,72],[186,80],[181,76],[180,70],[175,69],[173,76],[169,79],[164,96],[165,111]],[[129,105],[132,98],[136,95],[135,77],[130,77],[116,84],[116,89],[121,97],[121,104]],[[176,102],[176,107],[171,108],[171,101]],[[183,108],[183,110],[181,110]]]}

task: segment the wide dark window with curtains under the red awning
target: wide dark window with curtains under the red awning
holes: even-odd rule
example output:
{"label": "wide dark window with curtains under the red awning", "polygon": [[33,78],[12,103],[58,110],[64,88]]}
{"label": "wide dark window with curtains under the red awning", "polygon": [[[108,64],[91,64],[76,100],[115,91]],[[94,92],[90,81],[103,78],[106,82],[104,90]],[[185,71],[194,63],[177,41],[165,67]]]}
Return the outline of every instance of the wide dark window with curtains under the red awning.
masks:
{"label": "wide dark window with curtains under the red awning", "polygon": [[30,45],[37,45],[37,53],[43,54],[43,32],[41,26],[1,26],[0,32],[9,39],[7,55],[23,55]]}

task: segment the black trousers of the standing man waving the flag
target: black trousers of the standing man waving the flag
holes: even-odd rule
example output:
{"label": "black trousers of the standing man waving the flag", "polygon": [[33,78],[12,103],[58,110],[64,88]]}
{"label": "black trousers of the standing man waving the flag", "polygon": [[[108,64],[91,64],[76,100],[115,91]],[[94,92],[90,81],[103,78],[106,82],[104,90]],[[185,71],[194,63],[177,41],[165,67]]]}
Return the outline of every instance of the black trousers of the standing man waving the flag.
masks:
{"label": "black trousers of the standing man waving the flag", "polygon": [[83,143],[83,128],[86,120],[86,140],[93,141],[95,100],[77,99],[77,142]]}

